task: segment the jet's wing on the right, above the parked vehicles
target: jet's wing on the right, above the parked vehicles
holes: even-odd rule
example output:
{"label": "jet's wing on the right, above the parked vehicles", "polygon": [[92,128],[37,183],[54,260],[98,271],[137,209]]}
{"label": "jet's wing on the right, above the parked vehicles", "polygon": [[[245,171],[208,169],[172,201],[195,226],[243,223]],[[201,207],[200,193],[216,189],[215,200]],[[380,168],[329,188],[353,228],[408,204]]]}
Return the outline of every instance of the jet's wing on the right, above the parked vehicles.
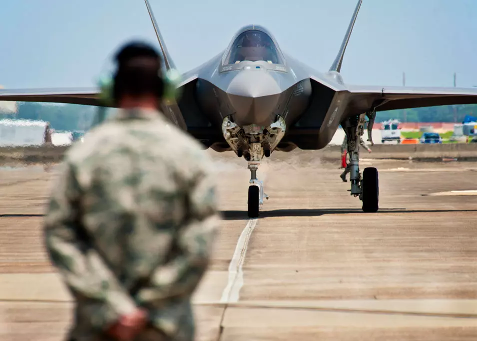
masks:
{"label": "jet's wing on the right, above the parked vehicles", "polygon": [[[477,104],[477,87],[411,87],[348,85],[352,113],[376,105],[376,111],[423,106]],[[358,112],[355,112],[355,111]]]}

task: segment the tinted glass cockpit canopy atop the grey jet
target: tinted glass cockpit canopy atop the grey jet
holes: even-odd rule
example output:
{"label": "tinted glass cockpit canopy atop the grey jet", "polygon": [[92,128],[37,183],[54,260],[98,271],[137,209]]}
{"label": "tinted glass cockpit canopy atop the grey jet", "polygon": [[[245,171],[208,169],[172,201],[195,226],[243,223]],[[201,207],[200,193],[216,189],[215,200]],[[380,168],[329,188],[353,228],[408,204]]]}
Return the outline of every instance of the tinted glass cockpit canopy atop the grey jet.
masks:
{"label": "tinted glass cockpit canopy atop the grey jet", "polygon": [[258,29],[250,29],[237,36],[224,64],[236,64],[244,60],[263,60],[271,64],[284,63],[272,38]]}

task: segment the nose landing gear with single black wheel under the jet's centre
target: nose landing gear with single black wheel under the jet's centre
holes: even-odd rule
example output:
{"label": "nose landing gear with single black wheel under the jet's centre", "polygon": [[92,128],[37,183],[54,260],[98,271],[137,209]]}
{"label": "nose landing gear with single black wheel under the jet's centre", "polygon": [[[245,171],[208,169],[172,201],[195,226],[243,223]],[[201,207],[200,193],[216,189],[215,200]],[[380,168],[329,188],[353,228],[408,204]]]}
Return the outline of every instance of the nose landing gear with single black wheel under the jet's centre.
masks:
{"label": "nose landing gear with single black wheel under the jet's centre", "polygon": [[247,155],[248,169],[250,169],[250,186],[248,187],[248,216],[257,218],[258,211],[263,199],[268,199],[268,195],[263,191],[263,181],[257,179],[257,170],[262,158],[262,146],[260,143],[253,143],[250,155]]}

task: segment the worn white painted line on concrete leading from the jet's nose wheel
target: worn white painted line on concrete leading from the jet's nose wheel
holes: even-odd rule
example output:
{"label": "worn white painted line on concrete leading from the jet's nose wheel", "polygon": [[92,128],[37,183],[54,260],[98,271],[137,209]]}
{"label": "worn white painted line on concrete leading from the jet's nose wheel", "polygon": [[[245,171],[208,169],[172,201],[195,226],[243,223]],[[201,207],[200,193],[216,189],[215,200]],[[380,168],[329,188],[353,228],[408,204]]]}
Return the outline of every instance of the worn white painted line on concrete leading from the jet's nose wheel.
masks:
{"label": "worn white painted line on concrete leading from the jet's nose wheel", "polygon": [[243,229],[235,246],[235,252],[229,265],[229,280],[222,292],[221,303],[238,302],[240,289],[243,285],[242,265],[247,253],[247,246],[253,229],[257,224],[257,219],[250,219]]}

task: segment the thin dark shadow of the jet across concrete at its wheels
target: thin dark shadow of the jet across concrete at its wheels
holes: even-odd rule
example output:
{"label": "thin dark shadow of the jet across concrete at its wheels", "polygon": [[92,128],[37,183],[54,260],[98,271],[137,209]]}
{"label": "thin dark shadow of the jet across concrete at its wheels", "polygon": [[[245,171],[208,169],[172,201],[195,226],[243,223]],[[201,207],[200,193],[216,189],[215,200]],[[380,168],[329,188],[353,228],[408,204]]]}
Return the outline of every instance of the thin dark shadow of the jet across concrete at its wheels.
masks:
{"label": "thin dark shadow of the jet across concrete at its wheels", "polygon": [[[320,216],[324,214],[380,214],[380,213],[440,213],[440,212],[477,212],[477,209],[406,209],[406,208],[382,208],[376,213],[365,213],[361,208],[324,208],[324,209],[272,209],[260,211],[259,218],[285,217],[285,216]],[[248,220],[245,210],[223,210],[223,220]]]}

